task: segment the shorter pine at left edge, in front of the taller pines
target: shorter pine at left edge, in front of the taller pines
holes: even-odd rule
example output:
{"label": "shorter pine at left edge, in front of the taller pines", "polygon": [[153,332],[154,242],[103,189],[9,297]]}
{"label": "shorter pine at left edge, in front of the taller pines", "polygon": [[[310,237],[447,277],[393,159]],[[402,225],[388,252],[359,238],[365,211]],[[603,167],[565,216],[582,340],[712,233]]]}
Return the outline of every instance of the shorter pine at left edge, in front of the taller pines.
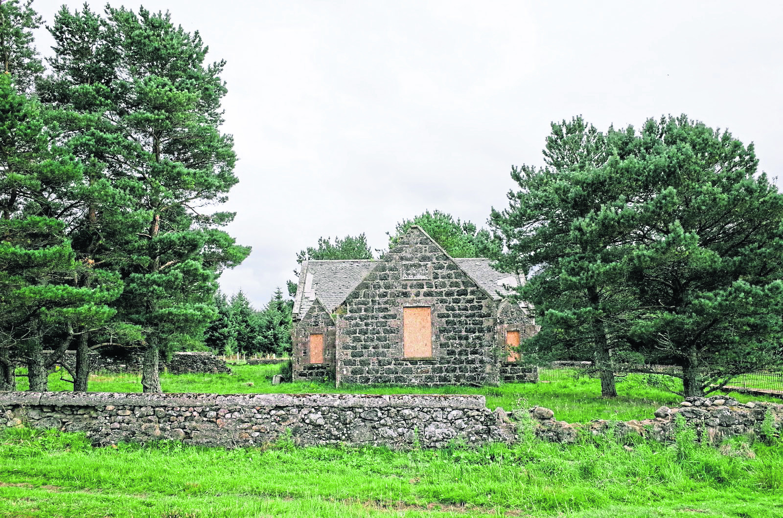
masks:
{"label": "shorter pine at left edge, in front of the taller pines", "polygon": [[[81,164],[56,145],[48,110],[16,92],[0,76],[0,367],[13,387],[9,350],[27,363],[30,390],[46,390],[47,372],[81,329],[99,329],[114,315],[106,303],[121,291],[117,275],[93,275],[95,286],[75,279],[92,264],[75,261],[67,221],[85,210],[88,189]],[[56,340],[43,354],[45,337]]]}

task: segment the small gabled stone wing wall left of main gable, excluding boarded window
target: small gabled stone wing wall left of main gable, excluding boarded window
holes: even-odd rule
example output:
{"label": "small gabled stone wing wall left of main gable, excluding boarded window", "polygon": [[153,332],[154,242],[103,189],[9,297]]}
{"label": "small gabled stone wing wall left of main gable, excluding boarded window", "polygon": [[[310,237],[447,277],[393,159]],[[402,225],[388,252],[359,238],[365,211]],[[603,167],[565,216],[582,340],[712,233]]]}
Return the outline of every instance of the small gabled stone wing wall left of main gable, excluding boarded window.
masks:
{"label": "small gabled stone wing wall left of main gable, excluding boarded window", "polygon": [[[337,328],[334,320],[319,300],[310,306],[294,328],[292,376],[294,380],[323,380],[334,378],[334,343]],[[310,362],[310,335],[323,334],[323,362]]]}

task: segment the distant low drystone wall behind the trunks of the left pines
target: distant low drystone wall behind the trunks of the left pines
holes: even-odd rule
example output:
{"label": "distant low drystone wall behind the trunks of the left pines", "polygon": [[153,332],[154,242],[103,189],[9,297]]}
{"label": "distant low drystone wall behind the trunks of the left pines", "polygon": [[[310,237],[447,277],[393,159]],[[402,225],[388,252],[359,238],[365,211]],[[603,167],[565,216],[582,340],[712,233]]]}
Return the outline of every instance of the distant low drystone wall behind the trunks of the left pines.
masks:
{"label": "distant low drystone wall behind the trunks of the left pines", "polygon": [[[52,351],[44,351],[51,354]],[[108,358],[96,352],[89,354],[90,372],[141,372],[142,356],[140,354],[128,358]],[[76,369],[76,351],[65,351],[63,358],[57,365],[63,366],[70,372]],[[176,352],[171,355],[171,361],[161,360],[161,370],[167,369],[174,374],[186,372],[231,373],[226,361],[211,352]]]}

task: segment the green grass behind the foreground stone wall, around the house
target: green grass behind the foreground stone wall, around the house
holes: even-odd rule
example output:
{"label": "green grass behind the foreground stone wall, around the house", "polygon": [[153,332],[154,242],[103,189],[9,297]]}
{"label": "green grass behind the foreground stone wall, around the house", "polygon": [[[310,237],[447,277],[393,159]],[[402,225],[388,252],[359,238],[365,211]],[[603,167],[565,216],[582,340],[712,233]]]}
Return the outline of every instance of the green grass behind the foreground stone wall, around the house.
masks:
{"label": "green grass behind the foreground stone wall, around the house", "polygon": [[[551,408],[555,417],[568,423],[586,423],[590,419],[651,419],[661,405],[677,405],[682,398],[658,387],[651,387],[648,376],[630,374],[617,385],[619,397],[601,397],[601,383],[588,377],[561,378],[551,383],[503,383],[500,387],[363,387],[334,383],[298,381],[272,385],[272,376],[280,365],[232,365],[233,374],[161,374],[161,385],[168,393],[211,394],[482,394],[489,408],[539,405]],[[49,376],[49,390],[72,390],[67,373]],[[27,389],[27,380],[19,378],[18,390]],[[95,392],[140,392],[138,374],[102,373],[90,376],[89,390]],[[738,401],[758,401],[760,397],[732,393]]]}

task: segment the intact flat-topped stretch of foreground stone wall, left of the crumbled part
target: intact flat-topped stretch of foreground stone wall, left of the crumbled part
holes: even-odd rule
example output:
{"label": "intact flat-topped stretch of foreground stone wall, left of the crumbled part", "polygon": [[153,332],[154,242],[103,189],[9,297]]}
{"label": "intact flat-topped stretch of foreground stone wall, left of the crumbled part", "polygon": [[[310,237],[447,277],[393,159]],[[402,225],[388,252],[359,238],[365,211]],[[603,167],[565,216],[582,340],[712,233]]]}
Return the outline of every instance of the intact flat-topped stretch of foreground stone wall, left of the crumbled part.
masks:
{"label": "intact flat-topped stretch of foreground stone wall, left of the crumbled part", "polygon": [[[93,444],[157,439],[236,448],[297,444],[439,448],[513,441],[484,396],[0,392],[0,423],[84,431]],[[290,434],[290,436],[289,436]]]}

